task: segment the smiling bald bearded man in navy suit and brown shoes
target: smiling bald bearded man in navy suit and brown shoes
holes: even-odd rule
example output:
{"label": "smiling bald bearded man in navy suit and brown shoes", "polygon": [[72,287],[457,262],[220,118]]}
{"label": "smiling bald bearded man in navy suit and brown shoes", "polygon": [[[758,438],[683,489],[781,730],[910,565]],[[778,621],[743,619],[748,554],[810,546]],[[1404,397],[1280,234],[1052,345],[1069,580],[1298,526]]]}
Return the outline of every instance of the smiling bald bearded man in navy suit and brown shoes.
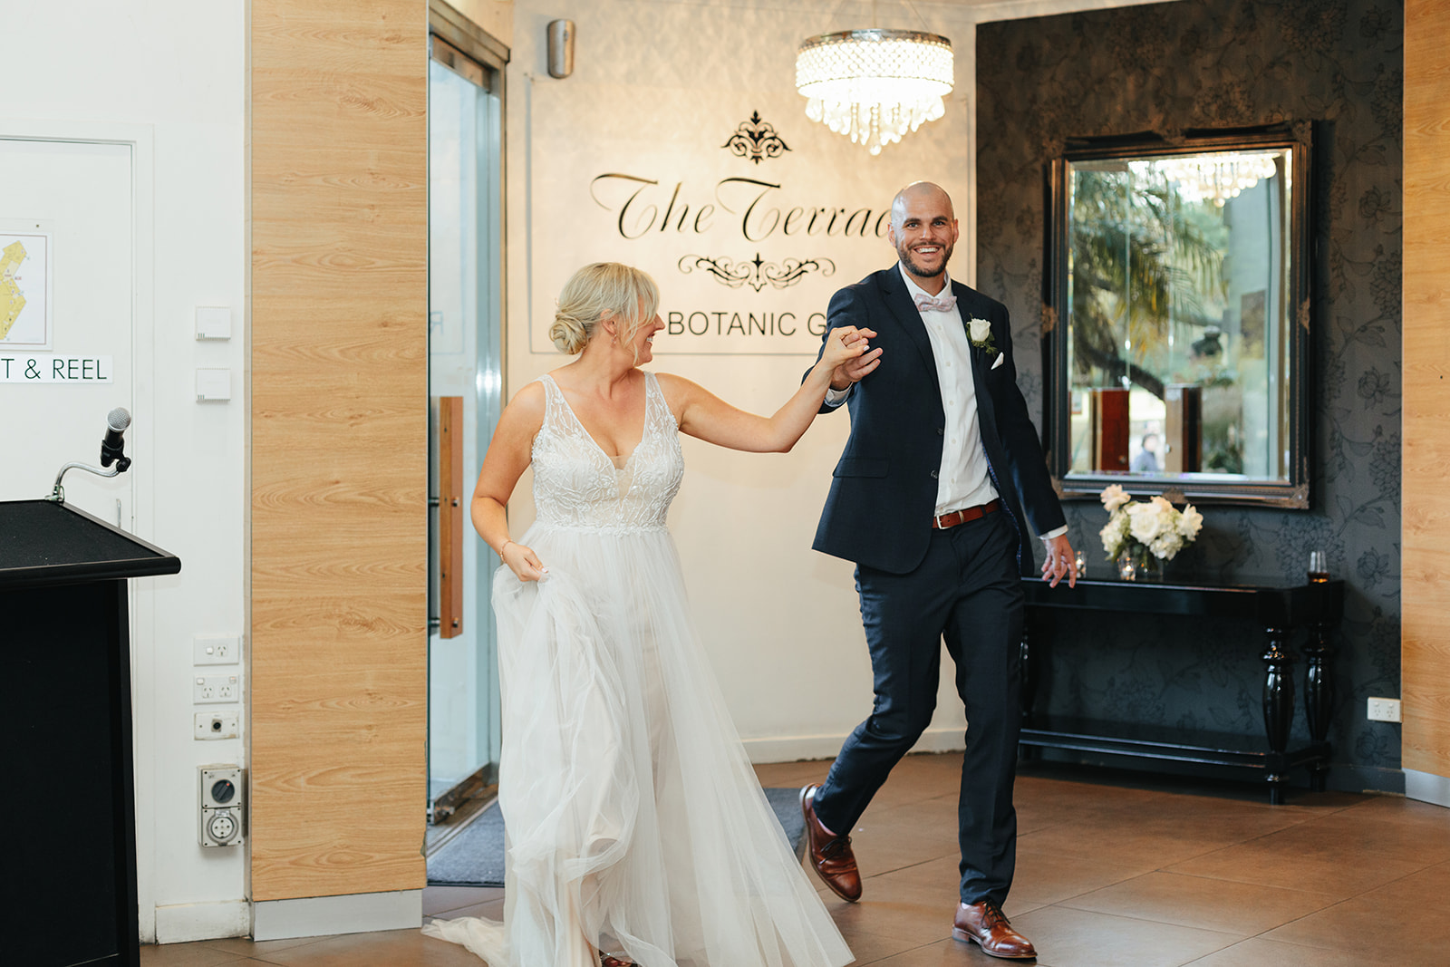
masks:
{"label": "smiling bald bearded man in navy suit and brown shoes", "polygon": [[899,264],[835,293],[826,315],[829,328],[874,331],[871,351],[837,370],[822,407],[844,402],[851,436],[813,547],[856,561],[876,702],[825,784],[800,793],[811,861],[838,896],[861,896],[848,834],[931,722],[945,638],[967,712],[953,935],[993,957],[1031,958],[1032,944],[1002,915],[1016,858],[1028,528],[1045,544],[1044,578],[1074,584],[1077,573],[1016,389],[1006,307],[947,278],[951,199],[927,181],[906,186],[889,238]]}

